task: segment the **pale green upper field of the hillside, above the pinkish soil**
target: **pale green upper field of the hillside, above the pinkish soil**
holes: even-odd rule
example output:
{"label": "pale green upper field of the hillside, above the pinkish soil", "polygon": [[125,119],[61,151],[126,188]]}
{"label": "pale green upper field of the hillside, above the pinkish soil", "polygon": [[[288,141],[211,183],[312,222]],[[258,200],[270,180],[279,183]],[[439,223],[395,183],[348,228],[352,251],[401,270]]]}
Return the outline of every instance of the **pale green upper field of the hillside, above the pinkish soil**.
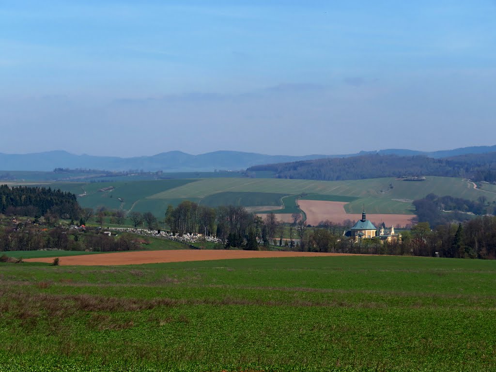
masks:
{"label": "pale green upper field of the hillside, above the pinkish soil", "polygon": [[[330,195],[335,199],[334,201],[341,201],[338,200],[339,197],[352,197],[354,200],[346,206],[346,210],[349,213],[360,213],[365,204],[370,213],[399,214],[412,214],[414,207],[411,201],[423,198],[429,193],[454,195],[470,200],[476,200],[482,193],[481,190],[474,189],[466,181],[446,177],[428,177],[427,181],[424,182],[406,182],[394,178],[334,182],[233,178],[200,180],[193,184],[160,192],[149,196],[149,198],[195,197],[201,200],[201,198],[208,195],[226,191],[286,193],[292,195],[308,193],[313,197],[323,195],[324,200],[328,200],[327,195]],[[490,201],[496,200],[496,194],[484,194]]]}

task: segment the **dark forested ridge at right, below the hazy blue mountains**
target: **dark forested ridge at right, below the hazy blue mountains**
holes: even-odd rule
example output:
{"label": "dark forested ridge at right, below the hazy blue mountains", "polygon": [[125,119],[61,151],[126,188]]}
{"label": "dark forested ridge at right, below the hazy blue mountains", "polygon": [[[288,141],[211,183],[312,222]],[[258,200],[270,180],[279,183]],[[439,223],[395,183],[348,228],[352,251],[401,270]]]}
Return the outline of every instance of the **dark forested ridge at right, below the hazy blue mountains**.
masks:
{"label": "dark forested ridge at right, below the hazy blue mountains", "polygon": [[247,172],[271,171],[276,178],[322,181],[380,177],[443,176],[496,182],[496,152],[434,159],[425,156],[362,155],[257,165]]}

